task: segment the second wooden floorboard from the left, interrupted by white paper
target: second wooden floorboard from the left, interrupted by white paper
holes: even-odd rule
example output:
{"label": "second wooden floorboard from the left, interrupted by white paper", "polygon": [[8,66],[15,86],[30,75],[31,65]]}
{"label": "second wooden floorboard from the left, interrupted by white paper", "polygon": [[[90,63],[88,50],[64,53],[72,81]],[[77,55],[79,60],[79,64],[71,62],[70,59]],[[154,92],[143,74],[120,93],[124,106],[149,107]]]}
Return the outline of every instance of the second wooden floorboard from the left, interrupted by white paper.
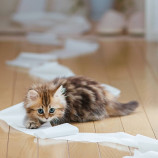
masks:
{"label": "second wooden floorboard from the left, interrupted by white paper", "polygon": [[[20,51],[22,50],[35,50],[34,46],[27,43],[18,43]],[[19,51],[19,53],[20,53]],[[17,54],[18,55],[18,54]],[[28,74],[20,68],[16,68],[16,82],[14,86],[13,104],[21,102],[25,96],[26,90],[31,84],[32,80]],[[8,158],[23,157],[23,158],[36,158],[38,155],[38,145],[34,143],[34,137],[19,132],[10,127],[9,143],[8,143]]]}

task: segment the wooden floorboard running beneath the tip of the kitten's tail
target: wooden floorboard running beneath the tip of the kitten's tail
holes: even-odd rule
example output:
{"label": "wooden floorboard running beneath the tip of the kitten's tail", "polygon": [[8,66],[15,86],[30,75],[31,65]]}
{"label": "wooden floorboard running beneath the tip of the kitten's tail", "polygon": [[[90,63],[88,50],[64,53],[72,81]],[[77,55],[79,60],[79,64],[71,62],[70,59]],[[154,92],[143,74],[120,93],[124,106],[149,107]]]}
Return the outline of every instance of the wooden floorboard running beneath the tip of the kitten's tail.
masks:
{"label": "wooden floorboard running beneath the tip of the kitten's tail", "polygon": [[[106,47],[108,47],[108,49],[112,47],[112,50],[109,50],[112,54],[119,54],[121,52],[121,57],[119,56],[118,58],[121,59],[120,62],[122,65],[118,66],[115,64],[111,64],[110,66],[105,66],[110,84],[115,87],[118,87],[121,90],[121,97],[119,98],[121,102],[137,100],[140,103],[140,106],[135,113],[125,117],[121,117],[121,122],[123,124],[124,131],[134,135],[139,133],[154,137],[153,131],[150,127],[150,122],[146,117],[142,102],[138,97],[133,78],[131,77],[130,71],[128,69],[128,64],[130,63],[131,56],[133,56],[133,51],[131,51],[132,46],[128,44],[128,42],[117,42],[116,45],[121,45],[117,47],[120,49],[113,50],[113,44],[114,43],[106,44]],[[104,63],[106,63],[106,53],[104,55],[104,59]]]}

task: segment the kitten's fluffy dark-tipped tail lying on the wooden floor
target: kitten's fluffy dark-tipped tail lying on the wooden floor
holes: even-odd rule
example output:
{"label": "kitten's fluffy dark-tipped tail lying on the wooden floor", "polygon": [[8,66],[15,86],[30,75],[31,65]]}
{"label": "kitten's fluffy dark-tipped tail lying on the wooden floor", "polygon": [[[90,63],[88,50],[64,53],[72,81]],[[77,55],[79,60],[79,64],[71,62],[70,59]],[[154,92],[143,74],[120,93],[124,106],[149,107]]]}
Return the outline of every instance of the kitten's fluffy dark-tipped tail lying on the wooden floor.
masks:
{"label": "kitten's fluffy dark-tipped tail lying on the wooden floor", "polygon": [[132,113],[138,105],[137,101],[130,101],[124,104],[117,101],[110,101],[106,106],[106,110],[109,116],[124,116]]}

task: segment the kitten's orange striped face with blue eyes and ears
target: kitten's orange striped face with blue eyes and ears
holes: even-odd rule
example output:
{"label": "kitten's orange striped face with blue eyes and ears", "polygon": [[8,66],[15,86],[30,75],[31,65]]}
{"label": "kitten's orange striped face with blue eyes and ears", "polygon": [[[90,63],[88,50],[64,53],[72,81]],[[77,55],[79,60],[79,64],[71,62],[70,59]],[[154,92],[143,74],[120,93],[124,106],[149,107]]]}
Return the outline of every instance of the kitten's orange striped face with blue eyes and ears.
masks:
{"label": "kitten's orange striped face with blue eyes and ears", "polygon": [[29,90],[25,103],[28,116],[42,122],[63,118],[66,101],[62,89],[60,86],[55,93],[43,90],[40,94],[35,90]]}

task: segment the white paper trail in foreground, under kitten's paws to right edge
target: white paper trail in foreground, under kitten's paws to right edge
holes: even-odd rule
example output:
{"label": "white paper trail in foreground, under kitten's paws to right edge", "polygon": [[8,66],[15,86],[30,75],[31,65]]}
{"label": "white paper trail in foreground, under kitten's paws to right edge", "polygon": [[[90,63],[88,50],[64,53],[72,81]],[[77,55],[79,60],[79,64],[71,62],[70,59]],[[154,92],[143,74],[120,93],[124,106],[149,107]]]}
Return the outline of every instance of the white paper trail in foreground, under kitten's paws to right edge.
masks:
{"label": "white paper trail in foreground, under kitten's paws to right edge", "polygon": [[91,143],[107,142],[137,149],[134,152],[134,156],[126,156],[124,158],[157,158],[158,156],[158,140],[142,135],[133,136],[124,132],[78,133],[78,128],[68,123],[55,127],[51,127],[50,123],[46,123],[38,129],[26,129],[26,112],[23,103],[0,111],[0,119],[21,132],[42,139],[53,138],[55,140]]}

